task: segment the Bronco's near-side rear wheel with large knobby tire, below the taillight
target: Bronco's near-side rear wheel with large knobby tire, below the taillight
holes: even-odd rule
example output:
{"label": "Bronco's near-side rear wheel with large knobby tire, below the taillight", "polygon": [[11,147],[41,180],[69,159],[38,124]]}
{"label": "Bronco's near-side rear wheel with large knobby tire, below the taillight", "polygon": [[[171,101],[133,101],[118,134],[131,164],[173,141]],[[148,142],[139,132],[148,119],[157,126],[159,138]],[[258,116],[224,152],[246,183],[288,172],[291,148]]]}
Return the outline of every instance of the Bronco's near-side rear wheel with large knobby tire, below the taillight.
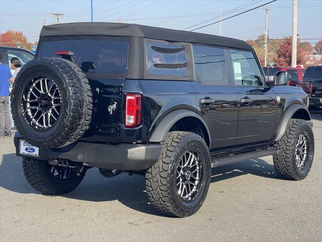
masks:
{"label": "Bronco's near-side rear wheel with large knobby tire, below the taillight", "polygon": [[148,199],[159,212],[187,217],[203,204],[210,183],[209,149],[190,132],[169,132],[158,161],[145,174]]}

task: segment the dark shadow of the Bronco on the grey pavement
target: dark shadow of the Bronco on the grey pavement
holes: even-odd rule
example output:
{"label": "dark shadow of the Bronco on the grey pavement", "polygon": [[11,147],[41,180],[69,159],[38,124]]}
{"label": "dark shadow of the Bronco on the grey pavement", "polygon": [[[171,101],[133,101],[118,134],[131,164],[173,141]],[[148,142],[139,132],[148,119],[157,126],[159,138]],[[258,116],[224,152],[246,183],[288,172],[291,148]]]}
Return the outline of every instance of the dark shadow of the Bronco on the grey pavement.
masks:
{"label": "dark shadow of the Bronco on the grey pavement", "polygon": [[[243,174],[277,178],[273,165],[256,159],[212,169],[211,182]],[[21,158],[15,154],[3,155],[0,165],[0,187],[16,193],[40,194],[27,183],[22,170]],[[129,176],[127,173],[121,173],[112,178],[105,178],[100,175],[98,169],[89,169],[81,185],[74,191],[61,196],[91,202],[117,200],[136,211],[162,216],[148,205],[144,177],[138,175]]]}

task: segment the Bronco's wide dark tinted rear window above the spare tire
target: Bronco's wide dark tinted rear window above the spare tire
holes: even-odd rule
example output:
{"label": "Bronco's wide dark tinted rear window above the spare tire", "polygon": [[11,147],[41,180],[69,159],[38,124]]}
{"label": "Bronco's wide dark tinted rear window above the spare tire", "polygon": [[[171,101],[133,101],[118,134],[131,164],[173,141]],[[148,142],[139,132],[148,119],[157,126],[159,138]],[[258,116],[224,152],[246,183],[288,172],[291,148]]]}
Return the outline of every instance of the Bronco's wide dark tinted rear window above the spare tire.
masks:
{"label": "Bronco's wide dark tinted rear window above the spare tire", "polygon": [[69,50],[74,63],[85,73],[125,73],[128,43],[109,40],[57,40],[42,42],[37,57],[56,56],[57,50]]}

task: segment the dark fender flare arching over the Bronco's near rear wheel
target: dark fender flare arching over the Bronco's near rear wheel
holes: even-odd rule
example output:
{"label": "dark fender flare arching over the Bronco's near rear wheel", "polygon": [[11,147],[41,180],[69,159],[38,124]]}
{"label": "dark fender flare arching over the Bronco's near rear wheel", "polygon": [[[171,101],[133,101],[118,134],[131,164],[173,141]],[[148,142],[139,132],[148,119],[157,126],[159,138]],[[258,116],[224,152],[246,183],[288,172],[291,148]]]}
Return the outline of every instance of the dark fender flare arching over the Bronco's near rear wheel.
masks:
{"label": "dark fender flare arching over the Bronco's near rear wheel", "polygon": [[208,137],[209,137],[209,147],[211,147],[211,136],[208,126],[205,120],[198,114],[191,110],[181,109],[175,110],[167,114],[161,122],[157,125],[155,130],[153,131],[149,142],[161,142],[164,141],[166,138],[167,133],[170,131],[171,127],[180,119],[184,117],[195,117],[198,118],[202,124],[204,125],[205,129],[207,130]]}

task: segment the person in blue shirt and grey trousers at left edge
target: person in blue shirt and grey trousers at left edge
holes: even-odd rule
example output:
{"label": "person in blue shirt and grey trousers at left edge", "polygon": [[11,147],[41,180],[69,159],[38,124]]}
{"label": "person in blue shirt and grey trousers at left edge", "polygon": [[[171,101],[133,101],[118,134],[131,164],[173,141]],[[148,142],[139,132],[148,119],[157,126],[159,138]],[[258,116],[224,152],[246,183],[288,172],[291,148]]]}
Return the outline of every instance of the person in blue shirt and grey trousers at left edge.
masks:
{"label": "person in blue shirt and grey trousers at left edge", "polygon": [[0,52],[0,137],[11,136],[9,115],[9,82],[13,81],[9,67],[2,64]]}

